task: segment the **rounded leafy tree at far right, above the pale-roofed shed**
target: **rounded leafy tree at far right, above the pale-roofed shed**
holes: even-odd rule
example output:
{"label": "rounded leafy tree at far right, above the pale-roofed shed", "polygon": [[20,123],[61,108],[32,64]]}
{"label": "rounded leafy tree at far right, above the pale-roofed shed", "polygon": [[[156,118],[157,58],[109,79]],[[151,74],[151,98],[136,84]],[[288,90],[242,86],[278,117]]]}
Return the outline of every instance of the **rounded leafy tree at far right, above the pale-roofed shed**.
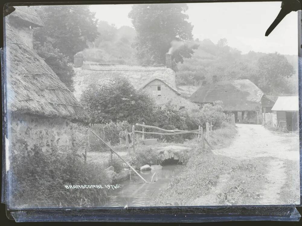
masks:
{"label": "rounded leafy tree at far right, above the pale-roofed shed", "polygon": [[258,86],[266,94],[281,94],[291,92],[287,79],[294,73],[294,67],[288,63],[284,55],[269,53],[259,58],[257,62]]}

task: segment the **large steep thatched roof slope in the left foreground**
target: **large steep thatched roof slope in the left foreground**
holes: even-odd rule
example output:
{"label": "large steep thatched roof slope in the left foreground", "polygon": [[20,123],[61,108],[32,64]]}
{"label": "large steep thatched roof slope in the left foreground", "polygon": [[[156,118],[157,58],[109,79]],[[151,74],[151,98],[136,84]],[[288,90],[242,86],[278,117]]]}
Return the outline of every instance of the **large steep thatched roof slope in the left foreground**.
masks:
{"label": "large steep thatched roof slope in the left foreground", "polygon": [[7,25],[5,31],[8,110],[74,120],[85,118],[87,113],[42,58],[13,28]]}

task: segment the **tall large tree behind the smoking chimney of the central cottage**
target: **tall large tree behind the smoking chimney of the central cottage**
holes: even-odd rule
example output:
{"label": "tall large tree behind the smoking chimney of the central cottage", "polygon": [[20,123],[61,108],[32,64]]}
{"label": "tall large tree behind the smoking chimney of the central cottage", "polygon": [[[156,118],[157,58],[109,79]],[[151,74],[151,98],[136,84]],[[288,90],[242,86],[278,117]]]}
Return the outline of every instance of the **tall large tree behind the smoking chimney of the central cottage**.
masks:
{"label": "tall large tree behind the smoking chimney of the central cottage", "polygon": [[187,9],[186,4],[133,5],[128,16],[137,31],[133,47],[141,64],[165,64],[165,53],[171,47],[174,66],[191,57],[198,46],[191,43],[193,26],[187,21]]}

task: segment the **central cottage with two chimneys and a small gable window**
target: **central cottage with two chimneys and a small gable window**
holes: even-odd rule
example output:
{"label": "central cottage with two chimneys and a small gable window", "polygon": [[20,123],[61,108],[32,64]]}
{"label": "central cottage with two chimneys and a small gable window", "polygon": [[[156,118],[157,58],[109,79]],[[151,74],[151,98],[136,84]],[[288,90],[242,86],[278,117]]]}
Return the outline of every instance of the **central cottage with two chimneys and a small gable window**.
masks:
{"label": "central cottage with two chimneys and a small gable window", "polygon": [[101,65],[95,62],[83,61],[82,54],[74,56],[75,92],[80,98],[82,92],[90,84],[104,82],[111,76],[123,76],[129,79],[136,89],[148,92],[157,105],[163,107],[167,102],[178,108],[198,108],[188,98],[181,95],[176,87],[176,74],[171,69],[171,55],[166,55],[167,66],[128,66]]}

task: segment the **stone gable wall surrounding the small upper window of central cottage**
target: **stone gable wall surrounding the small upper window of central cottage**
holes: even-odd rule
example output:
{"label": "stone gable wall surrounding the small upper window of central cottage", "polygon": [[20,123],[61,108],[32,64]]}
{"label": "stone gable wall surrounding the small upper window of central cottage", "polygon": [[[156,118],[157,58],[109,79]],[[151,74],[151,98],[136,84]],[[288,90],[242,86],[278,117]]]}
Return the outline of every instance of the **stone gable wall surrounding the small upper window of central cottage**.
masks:
{"label": "stone gable wall surrounding the small upper window of central cottage", "polygon": [[[153,87],[152,86],[161,86],[161,95],[153,95]],[[173,105],[177,105],[178,108],[185,107],[185,108],[198,108],[198,105],[189,101],[188,99],[183,98],[180,95],[177,95],[169,86],[159,80],[154,80],[148,84],[144,88],[146,92],[152,95],[155,99],[155,102],[159,106],[165,105],[167,102],[171,101]]]}

